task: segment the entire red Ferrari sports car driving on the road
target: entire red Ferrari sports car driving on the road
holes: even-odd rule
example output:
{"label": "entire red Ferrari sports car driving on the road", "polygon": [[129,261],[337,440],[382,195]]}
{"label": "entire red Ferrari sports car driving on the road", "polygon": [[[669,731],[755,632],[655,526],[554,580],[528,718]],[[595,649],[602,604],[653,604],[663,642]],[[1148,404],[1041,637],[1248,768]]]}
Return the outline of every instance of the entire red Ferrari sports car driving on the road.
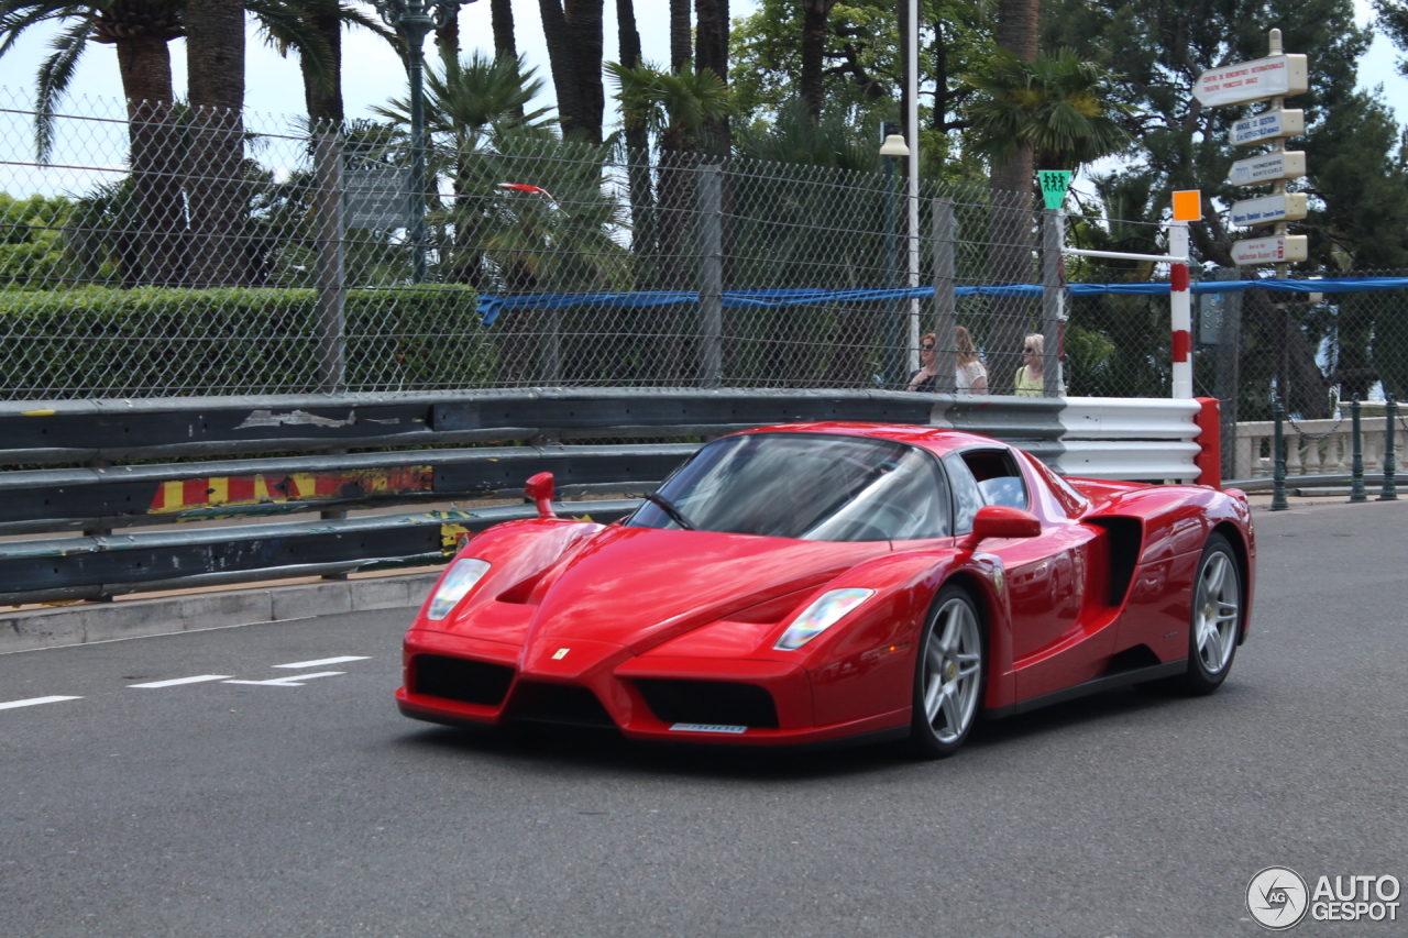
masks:
{"label": "entire red Ferrari sports car driving on the road", "polygon": [[627,518],[458,554],[406,635],[401,713],[641,739],[957,749],[980,715],[1222,683],[1246,638],[1246,496],[1062,479],[1007,444],[812,423],[703,446]]}

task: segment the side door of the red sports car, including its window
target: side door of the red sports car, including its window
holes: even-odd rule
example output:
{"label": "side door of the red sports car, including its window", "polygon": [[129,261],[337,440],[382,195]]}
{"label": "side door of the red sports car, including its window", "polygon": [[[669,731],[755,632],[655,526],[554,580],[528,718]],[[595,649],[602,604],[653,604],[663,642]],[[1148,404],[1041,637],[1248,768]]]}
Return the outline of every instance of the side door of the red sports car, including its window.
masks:
{"label": "side door of the red sports car, including its window", "polygon": [[949,454],[943,463],[960,506],[955,513],[956,534],[972,530],[972,514],[983,504],[1024,508],[1042,523],[1035,538],[984,541],[979,548],[1002,562],[1012,613],[1017,699],[1039,697],[1095,677],[1112,638],[1108,630],[1087,630],[1081,615],[1095,531],[1052,510],[1052,499],[1033,499],[1043,482],[1025,473],[1007,449],[964,449]]}

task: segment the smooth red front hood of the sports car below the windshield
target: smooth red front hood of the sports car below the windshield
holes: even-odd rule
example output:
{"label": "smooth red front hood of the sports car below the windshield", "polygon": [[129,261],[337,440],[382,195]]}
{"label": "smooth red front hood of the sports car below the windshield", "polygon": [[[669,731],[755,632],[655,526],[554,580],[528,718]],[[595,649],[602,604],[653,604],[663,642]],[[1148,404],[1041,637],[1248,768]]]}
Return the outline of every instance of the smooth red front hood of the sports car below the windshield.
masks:
{"label": "smooth red front hood of the sports car below the windshield", "polygon": [[607,528],[582,546],[542,596],[529,641],[589,639],[641,654],[739,610],[821,586],[888,552],[888,541]]}

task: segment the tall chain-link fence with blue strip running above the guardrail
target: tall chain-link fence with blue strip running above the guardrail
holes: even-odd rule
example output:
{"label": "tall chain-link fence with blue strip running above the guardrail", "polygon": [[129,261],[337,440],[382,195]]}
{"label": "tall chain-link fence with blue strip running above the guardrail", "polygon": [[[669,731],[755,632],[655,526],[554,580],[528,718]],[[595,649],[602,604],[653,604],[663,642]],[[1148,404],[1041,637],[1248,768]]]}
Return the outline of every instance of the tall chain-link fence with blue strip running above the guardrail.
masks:
{"label": "tall chain-link fence with blue strip running above the guardrail", "polygon": [[[925,182],[911,239],[897,166],[622,161],[542,130],[480,128],[436,135],[431,192],[411,197],[394,125],[310,134],[291,120],[79,101],[55,115],[39,161],[31,104],[0,90],[0,399],[1169,394],[1167,294],[1114,289],[1166,280],[1166,268],[1055,262],[1055,215],[986,187]],[[1148,223],[1071,215],[1063,237],[1164,252]],[[1062,289],[1074,283],[1112,290]],[[1277,296],[1238,294],[1235,317],[1229,300],[1201,304],[1235,327],[1200,330],[1200,393],[1260,415],[1276,386],[1326,401],[1331,384],[1400,380],[1405,359],[1388,355],[1408,341],[1408,294],[1290,313]]]}

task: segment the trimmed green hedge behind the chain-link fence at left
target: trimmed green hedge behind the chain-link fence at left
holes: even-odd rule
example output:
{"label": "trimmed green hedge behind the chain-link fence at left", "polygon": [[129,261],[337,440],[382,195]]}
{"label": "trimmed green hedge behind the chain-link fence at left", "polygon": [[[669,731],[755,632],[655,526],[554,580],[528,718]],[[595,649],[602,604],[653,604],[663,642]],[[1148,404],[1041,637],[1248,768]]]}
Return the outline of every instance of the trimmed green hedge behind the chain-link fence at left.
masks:
{"label": "trimmed green hedge behind the chain-link fence at left", "polygon": [[[484,386],[494,345],[465,286],[349,290],[348,390]],[[317,292],[0,292],[0,397],[318,390]]]}

